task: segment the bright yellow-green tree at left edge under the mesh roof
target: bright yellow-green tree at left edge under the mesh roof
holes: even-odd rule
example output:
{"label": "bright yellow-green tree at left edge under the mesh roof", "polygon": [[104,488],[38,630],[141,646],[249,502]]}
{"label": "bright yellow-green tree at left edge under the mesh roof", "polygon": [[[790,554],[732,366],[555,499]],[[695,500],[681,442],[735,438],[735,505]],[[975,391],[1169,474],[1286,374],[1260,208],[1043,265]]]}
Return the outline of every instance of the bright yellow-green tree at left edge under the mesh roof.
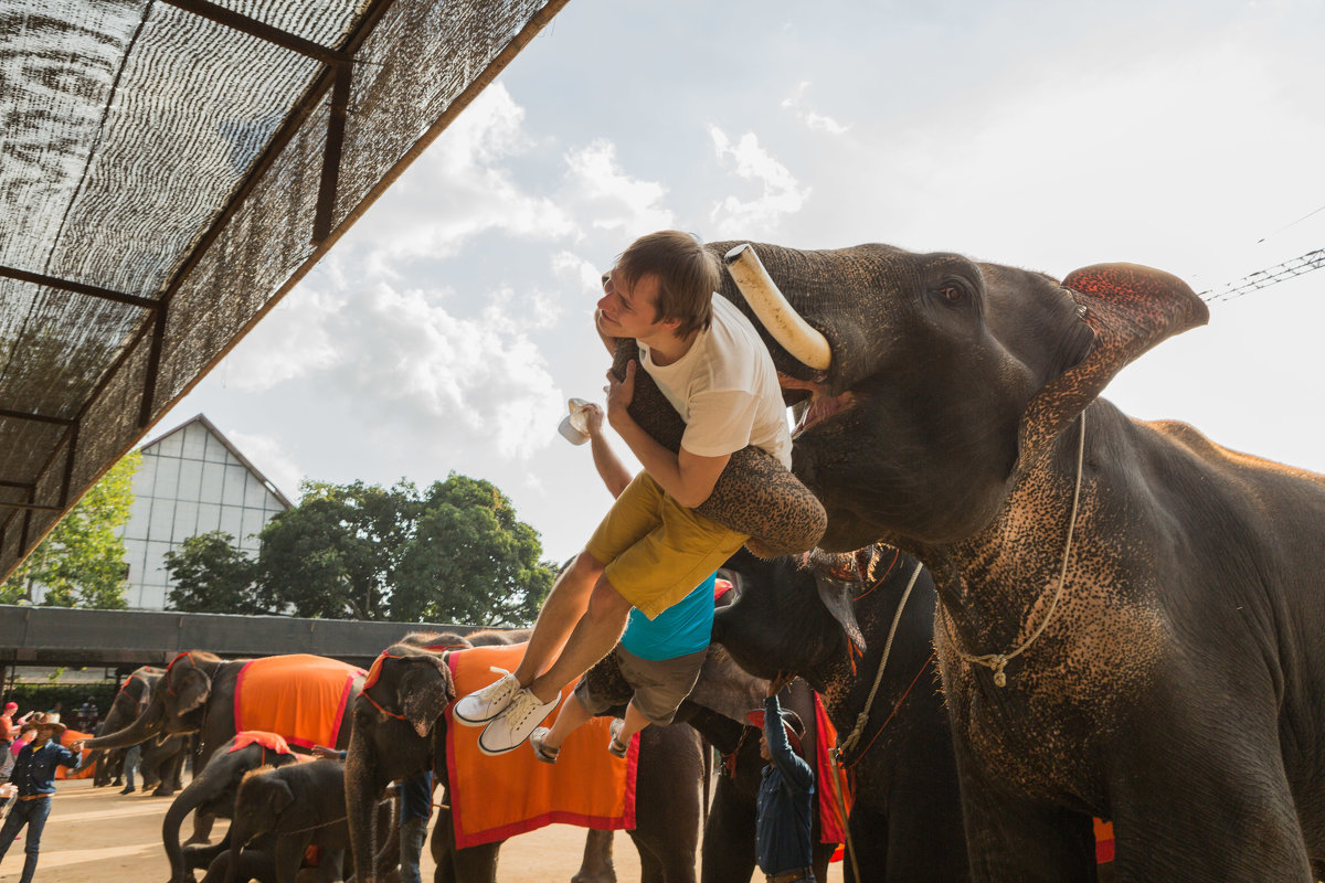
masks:
{"label": "bright yellow-green tree at left edge under the mesh roof", "polygon": [[134,502],[142,454],[130,451],[110,467],[0,588],[0,601],[32,598],[57,608],[119,610],[126,606],[125,541],[119,528]]}

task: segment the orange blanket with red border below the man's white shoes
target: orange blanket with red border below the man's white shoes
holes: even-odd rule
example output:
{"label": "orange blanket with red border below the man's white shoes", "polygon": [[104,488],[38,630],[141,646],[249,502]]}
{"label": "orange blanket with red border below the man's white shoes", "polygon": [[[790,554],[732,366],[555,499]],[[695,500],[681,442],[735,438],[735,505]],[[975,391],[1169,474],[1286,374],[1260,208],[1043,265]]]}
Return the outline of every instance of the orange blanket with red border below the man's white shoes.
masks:
{"label": "orange blanket with red border below the man's white shoes", "polygon": [[[450,653],[456,695],[486,687],[514,671],[525,645],[472,647]],[[572,684],[574,686],[574,684]],[[562,691],[570,695],[571,687]],[[545,721],[550,727],[556,712]],[[447,710],[447,768],[457,846],[506,839],[545,825],[564,823],[604,831],[635,827],[635,773],[640,740],[625,760],[607,753],[607,718],[595,718],[562,744],[556,764],[543,764],[529,745],[497,757],[478,753],[482,727],[461,727]]]}

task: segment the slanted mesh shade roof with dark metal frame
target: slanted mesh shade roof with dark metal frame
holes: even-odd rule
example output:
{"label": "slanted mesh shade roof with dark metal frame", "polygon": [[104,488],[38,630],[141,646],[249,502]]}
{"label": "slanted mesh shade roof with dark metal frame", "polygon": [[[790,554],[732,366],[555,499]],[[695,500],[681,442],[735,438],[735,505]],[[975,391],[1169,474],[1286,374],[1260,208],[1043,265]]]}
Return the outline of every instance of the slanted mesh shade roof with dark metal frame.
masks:
{"label": "slanted mesh shade roof with dark metal frame", "polygon": [[0,0],[0,577],[566,0]]}

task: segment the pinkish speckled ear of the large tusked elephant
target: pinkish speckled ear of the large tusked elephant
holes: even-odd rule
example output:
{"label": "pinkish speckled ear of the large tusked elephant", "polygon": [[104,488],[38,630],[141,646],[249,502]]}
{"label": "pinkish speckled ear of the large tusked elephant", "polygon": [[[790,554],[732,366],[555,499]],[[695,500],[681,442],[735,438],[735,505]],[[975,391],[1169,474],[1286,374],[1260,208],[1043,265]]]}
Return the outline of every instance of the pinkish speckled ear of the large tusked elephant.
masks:
{"label": "pinkish speckled ear of the large tusked elephant", "polygon": [[1137,263],[1098,263],[1071,273],[1065,287],[1094,332],[1090,352],[1027,405],[1019,467],[1043,455],[1128,363],[1210,320],[1210,308],[1175,275]]}

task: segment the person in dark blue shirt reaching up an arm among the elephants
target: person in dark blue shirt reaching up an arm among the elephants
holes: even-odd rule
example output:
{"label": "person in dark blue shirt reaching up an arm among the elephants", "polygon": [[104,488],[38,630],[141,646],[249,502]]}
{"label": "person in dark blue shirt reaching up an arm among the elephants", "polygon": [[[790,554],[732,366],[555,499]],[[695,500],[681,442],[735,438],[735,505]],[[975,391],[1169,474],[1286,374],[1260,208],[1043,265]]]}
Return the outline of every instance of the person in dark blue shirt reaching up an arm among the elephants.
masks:
{"label": "person in dark blue shirt reaching up an arm among the elephants", "polygon": [[794,674],[779,674],[768,683],[763,710],[747,715],[763,729],[759,756],[768,761],[759,780],[755,821],[755,858],[768,883],[815,883],[810,827],[815,773],[799,753],[806,735],[800,716],[778,703],[778,692],[794,679]]}

